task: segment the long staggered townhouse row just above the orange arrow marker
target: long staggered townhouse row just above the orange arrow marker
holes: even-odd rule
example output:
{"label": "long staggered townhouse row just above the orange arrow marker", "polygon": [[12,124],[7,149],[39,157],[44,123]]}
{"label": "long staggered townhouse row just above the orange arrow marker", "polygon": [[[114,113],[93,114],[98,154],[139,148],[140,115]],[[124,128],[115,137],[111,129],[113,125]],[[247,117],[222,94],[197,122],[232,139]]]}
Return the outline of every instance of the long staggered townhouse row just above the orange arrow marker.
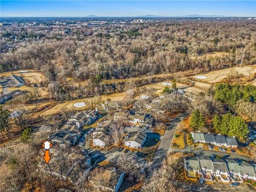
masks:
{"label": "long staggered townhouse row just above the orange arrow marker", "polygon": [[58,143],[63,147],[75,146],[82,136],[81,128],[85,125],[90,125],[98,117],[98,111],[95,110],[76,113],[68,119],[67,124],[60,131],[51,135],[49,138],[53,143]]}

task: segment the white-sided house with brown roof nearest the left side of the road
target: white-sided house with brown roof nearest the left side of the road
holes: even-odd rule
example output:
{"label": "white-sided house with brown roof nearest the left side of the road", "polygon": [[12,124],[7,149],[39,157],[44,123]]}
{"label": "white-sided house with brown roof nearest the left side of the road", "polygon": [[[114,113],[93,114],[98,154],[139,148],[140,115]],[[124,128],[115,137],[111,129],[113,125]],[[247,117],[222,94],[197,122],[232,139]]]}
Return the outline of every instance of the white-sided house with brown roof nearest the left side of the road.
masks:
{"label": "white-sided house with brown roof nearest the left side of the road", "polygon": [[131,147],[135,149],[140,149],[145,143],[147,135],[145,133],[139,132],[138,134],[132,135],[130,138],[124,141],[126,147]]}

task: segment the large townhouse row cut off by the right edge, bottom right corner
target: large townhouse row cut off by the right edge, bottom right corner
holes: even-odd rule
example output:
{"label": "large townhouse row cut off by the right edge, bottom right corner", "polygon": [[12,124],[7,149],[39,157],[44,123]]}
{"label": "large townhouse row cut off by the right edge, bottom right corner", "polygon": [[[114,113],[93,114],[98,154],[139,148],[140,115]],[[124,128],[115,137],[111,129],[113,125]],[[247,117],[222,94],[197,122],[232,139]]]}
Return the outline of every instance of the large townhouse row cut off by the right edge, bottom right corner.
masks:
{"label": "large townhouse row cut off by the right edge, bottom right corner", "polygon": [[256,180],[256,164],[242,162],[234,159],[214,159],[209,157],[184,157],[186,171],[195,171],[206,180],[206,175],[220,177],[223,182],[243,181],[245,179]]}

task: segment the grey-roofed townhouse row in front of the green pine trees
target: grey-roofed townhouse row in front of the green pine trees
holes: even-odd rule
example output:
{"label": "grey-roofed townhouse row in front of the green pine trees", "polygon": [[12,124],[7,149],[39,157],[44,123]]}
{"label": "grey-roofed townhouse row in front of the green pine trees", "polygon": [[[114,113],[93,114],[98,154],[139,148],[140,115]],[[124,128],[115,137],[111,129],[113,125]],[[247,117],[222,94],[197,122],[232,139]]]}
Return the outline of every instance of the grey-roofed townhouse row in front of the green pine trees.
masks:
{"label": "grey-roofed townhouse row in front of the green pine trees", "polygon": [[191,132],[194,142],[211,143],[212,145],[237,148],[235,137],[226,137],[220,134]]}

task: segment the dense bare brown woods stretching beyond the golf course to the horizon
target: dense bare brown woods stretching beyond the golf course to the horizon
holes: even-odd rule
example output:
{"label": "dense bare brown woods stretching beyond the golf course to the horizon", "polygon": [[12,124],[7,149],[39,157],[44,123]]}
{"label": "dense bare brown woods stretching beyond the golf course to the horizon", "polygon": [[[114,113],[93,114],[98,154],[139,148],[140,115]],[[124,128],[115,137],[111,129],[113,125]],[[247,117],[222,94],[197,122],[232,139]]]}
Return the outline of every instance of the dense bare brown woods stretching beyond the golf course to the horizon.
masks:
{"label": "dense bare brown woods stretching beyond the golf course to the horizon", "polygon": [[[33,30],[23,28],[14,32],[6,28],[2,39],[12,42],[13,35],[18,35],[29,41],[1,53],[1,71],[42,71],[51,97],[71,100],[124,91],[119,88],[123,85],[105,85],[103,79],[208,71],[255,63],[255,21],[169,19],[68,30],[71,33],[54,31],[38,36],[39,32]],[[213,57],[213,52],[221,53]],[[89,85],[74,85],[80,81],[89,81]]]}

